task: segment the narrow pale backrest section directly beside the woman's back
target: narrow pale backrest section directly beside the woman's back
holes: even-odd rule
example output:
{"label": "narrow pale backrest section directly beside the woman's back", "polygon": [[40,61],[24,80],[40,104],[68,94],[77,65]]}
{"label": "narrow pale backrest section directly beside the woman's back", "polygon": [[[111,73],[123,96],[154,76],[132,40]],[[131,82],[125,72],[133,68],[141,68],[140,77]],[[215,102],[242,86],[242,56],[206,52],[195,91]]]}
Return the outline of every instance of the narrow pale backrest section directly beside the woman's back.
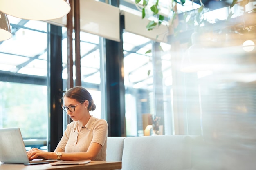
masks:
{"label": "narrow pale backrest section directly beside the woman's back", "polygon": [[108,137],[106,161],[122,161],[125,137]]}

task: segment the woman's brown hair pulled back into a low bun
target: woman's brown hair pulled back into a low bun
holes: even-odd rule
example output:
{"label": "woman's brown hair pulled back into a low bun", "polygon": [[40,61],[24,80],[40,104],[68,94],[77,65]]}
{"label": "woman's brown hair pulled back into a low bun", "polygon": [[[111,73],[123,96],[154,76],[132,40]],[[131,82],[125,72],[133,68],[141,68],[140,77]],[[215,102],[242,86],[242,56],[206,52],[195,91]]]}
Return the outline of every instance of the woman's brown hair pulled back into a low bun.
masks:
{"label": "woman's brown hair pulled back into a low bun", "polygon": [[76,99],[78,102],[84,102],[85,100],[88,100],[89,106],[88,110],[93,111],[96,108],[96,105],[93,102],[91,94],[83,87],[76,86],[73,88],[68,89],[62,98],[68,97],[71,99]]}

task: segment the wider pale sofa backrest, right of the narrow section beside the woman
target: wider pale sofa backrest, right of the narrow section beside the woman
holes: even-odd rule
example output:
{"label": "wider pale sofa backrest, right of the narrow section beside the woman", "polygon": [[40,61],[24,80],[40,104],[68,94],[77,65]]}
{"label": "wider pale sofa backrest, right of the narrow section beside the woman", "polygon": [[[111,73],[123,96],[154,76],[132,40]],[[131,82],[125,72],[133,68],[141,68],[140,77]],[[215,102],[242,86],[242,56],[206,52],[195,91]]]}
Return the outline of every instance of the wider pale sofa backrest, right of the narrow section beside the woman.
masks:
{"label": "wider pale sofa backrest, right of the narrow section beside the woman", "polygon": [[187,135],[127,137],[121,170],[189,170],[191,143]]}

